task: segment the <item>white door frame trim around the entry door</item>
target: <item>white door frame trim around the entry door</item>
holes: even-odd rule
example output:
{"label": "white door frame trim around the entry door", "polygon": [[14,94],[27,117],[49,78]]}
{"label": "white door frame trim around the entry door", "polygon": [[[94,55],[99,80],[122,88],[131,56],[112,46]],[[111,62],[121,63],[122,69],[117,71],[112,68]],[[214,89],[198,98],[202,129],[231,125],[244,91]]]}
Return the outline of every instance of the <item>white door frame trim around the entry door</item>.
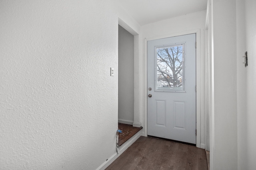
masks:
{"label": "white door frame trim around the entry door", "polygon": [[[180,36],[180,35],[186,35],[186,34],[192,34],[192,33],[196,33],[196,87],[197,87],[197,91],[196,91],[196,147],[198,148],[203,148],[205,149],[205,145],[202,144],[201,146],[201,133],[200,133],[200,95],[201,95],[201,88],[200,88],[200,29],[194,29],[194,30],[190,30],[190,31],[184,31],[184,32],[180,32],[180,33],[172,33],[172,34],[168,34],[168,35],[160,35],[160,36],[156,36],[156,37],[149,37],[149,38],[145,38],[144,39],[144,94],[148,94],[147,88],[148,88],[148,66],[147,66],[147,62],[148,62],[148,53],[147,53],[147,45],[148,45],[148,41],[151,40],[155,40],[155,39],[162,39],[162,38],[168,38],[168,37],[175,37],[175,36]],[[148,96],[144,95],[144,101],[145,101],[145,105],[144,105],[144,110],[145,110],[145,116],[144,116],[144,122],[145,122],[145,136],[148,136]]]}

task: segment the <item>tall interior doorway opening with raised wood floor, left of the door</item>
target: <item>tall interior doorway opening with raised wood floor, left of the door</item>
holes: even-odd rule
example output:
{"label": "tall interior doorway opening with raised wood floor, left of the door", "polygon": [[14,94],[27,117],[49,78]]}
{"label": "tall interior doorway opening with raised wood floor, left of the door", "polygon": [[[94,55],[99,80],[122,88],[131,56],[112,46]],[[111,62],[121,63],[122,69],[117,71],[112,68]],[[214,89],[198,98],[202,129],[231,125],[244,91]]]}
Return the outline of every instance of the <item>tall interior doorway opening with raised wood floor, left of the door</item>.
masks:
{"label": "tall interior doorway opening with raised wood floor, left of the door", "polygon": [[[141,123],[136,119],[139,117],[136,111],[136,85],[137,76],[134,74],[136,57],[134,48],[136,44],[134,35],[121,25],[118,25],[118,133],[117,147],[120,147],[141,129]],[[137,42],[138,43],[138,42]],[[135,107],[134,107],[135,105]]]}

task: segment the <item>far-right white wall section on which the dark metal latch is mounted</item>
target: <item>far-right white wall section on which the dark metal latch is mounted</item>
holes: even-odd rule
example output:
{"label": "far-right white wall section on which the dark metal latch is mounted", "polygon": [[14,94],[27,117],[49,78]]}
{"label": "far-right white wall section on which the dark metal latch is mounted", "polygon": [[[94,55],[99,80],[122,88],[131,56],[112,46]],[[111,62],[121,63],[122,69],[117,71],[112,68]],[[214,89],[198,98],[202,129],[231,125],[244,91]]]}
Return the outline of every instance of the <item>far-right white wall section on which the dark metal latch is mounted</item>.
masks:
{"label": "far-right white wall section on which the dark metal latch is mounted", "polygon": [[[256,1],[237,0],[238,169],[256,167]],[[248,67],[244,67],[244,52]]]}

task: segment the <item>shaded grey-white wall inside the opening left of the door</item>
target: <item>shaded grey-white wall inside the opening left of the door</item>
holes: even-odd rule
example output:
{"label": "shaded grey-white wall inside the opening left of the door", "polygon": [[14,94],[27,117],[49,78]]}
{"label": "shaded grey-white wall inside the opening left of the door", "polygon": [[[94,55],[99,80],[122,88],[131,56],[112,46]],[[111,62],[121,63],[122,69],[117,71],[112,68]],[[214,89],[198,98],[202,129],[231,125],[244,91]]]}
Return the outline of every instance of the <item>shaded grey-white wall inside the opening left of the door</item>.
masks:
{"label": "shaded grey-white wall inside the opening left of the door", "polygon": [[134,36],[118,26],[118,122],[134,122]]}

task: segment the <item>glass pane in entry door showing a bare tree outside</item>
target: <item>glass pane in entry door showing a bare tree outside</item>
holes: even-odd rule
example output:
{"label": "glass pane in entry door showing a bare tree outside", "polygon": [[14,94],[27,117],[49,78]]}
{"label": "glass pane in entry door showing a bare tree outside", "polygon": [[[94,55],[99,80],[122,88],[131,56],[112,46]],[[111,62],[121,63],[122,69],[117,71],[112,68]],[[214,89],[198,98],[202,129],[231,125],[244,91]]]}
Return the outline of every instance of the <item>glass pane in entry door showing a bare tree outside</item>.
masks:
{"label": "glass pane in entry door showing a bare tree outside", "polygon": [[157,90],[183,90],[183,46],[156,49]]}

